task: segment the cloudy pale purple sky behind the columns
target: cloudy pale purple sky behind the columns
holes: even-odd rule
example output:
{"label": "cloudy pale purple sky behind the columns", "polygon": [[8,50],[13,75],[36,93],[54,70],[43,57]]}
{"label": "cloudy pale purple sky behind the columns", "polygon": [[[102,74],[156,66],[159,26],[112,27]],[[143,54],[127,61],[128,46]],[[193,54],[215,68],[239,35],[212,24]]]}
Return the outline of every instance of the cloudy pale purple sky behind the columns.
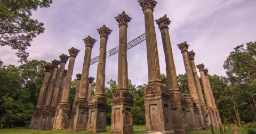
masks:
{"label": "cloudy pale purple sky behind the columns", "polygon": [[[195,63],[204,63],[209,74],[226,76],[222,65],[237,45],[256,41],[256,1],[254,0],[158,0],[154,20],[167,14],[172,21],[169,26],[177,75],[185,73],[182,54],[177,44],[187,41],[188,51],[194,50]],[[105,24],[113,30],[109,35],[107,51],[118,46],[119,28],[115,16],[125,11],[132,20],[128,23],[127,41],[145,33],[144,14],[136,0],[57,0],[51,7],[33,12],[33,19],[44,22],[45,31],[34,38],[28,60],[59,60],[68,55],[68,49],[80,49],[74,66],[75,74],[82,73],[85,45],[90,35],[97,39],[92,58],[99,55],[100,36],[97,29]],[[165,73],[165,57],[161,32],[155,23],[161,73]],[[0,60],[4,64],[20,65],[10,47],[0,48]],[[148,82],[146,41],[127,51],[128,76],[133,84]],[[118,54],[106,58],[106,81],[117,80]],[[67,69],[66,65],[66,69]],[[89,77],[97,76],[95,63],[90,66]],[[106,86],[109,86],[106,84]]]}

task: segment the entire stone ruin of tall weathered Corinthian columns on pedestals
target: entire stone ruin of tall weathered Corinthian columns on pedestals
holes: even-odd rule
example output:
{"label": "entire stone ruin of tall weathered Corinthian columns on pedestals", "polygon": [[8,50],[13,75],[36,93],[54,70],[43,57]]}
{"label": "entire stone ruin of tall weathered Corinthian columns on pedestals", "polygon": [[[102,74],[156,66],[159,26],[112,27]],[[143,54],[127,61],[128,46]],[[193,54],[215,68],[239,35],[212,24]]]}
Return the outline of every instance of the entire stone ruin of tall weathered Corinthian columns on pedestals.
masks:
{"label": "entire stone ruin of tall weathered Corinthian columns on pedestals", "polygon": [[[221,124],[220,113],[215,104],[207,69],[203,64],[195,65],[194,51],[188,52],[188,44],[178,44],[181,50],[188,80],[190,94],[184,94],[177,82],[177,74],[172,54],[172,46],[169,35],[171,21],[166,14],[155,20],[161,31],[165,63],[167,87],[161,79],[159,57],[157,50],[156,32],[154,26],[154,0],[138,1],[145,16],[147,60],[148,60],[148,85],[144,89],[146,133],[161,130],[164,133],[188,133],[190,130],[203,130],[210,128],[210,124]],[[117,91],[112,96],[111,131],[110,133],[133,133],[133,107],[132,94],[128,90],[127,70],[127,27],[131,21],[129,15],[122,12],[115,17],[119,26],[119,54],[118,54],[118,85]],[[79,50],[72,47],[68,50],[69,56],[60,55],[60,61],[53,60],[52,66],[45,66],[45,76],[39,94],[36,109],[33,112],[30,129],[105,132],[107,101],[104,95],[105,88],[105,64],[106,47],[109,28],[103,25],[97,29],[100,35],[100,54],[98,57],[98,70],[95,86],[95,95],[91,99],[92,83],[94,78],[89,78],[89,68],[92,48],[97,41],[90,36],[86,37],[85,56],[82,74],[76,74],[77,85],[73,107],[68,104],[75,58]],[[68,63],[68,70],[65,65]],[[57,69],[59,72],[57,78]],[[196,68],[201,74],[204,95]],[[89,81],[89,84],[88,84]],[[53,85],[56,82],[53,93]],[[47,87],[47,89],[46,89]],[[88,92],[87,92],[88,89]],[[53,95],[52,95],[53,94]],[[51,96],[52,99],[51,99]]]}

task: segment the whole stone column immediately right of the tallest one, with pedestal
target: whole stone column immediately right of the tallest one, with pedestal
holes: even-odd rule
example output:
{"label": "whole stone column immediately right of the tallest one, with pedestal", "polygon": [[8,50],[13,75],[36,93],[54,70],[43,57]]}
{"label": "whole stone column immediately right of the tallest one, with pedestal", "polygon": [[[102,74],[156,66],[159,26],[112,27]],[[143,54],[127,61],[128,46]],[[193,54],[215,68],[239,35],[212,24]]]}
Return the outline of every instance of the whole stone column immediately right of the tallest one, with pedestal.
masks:
{"label": "whole stone column immediately right of the tallest one, with pedestal", "polygon": [[[180,89],[177,82],[177,74],[175,69],[175,64],[172,55],[172,46],[169,35],[168,25],[171,23],[166,14],[155,20],[158,24],[158,28],[161,31],[164,54],[165,54],[165,63],[166,63],[166,76],[167,76],[167,86],[170,95],[170,104],[171,104],[171,121],[173,123],[173,129],[175,133],[187,133],[189,132],[189,126],[185,124],[183,109],[186,108],[185,99],[182,99]],[[186,129],[187,127],[187,129]]]}

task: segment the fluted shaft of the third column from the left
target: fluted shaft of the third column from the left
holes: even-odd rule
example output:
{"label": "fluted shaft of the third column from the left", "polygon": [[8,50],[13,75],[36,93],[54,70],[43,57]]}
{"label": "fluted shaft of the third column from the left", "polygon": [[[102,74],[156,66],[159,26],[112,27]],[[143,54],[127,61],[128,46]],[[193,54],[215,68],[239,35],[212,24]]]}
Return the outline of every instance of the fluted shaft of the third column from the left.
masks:
{"label": "fluted shaft of the third column from the left", "polygon": [[57,76],[57,81],[55,84],[51,105],[58,105],[58,98],[61,90],[61,79],[62,79],[62,75],[64,74],[65,65],[66,65],[65,62],[60,63],[59,73]]}

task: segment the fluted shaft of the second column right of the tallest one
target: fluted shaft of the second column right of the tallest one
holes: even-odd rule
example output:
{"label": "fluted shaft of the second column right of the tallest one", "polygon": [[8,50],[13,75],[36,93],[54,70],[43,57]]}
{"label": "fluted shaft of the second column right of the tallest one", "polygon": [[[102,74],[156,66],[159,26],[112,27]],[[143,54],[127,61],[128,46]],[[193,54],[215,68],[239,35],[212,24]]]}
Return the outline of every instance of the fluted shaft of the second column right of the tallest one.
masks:
{"label": "fluted shaft of the second column right of the tallest one", "polygon": [[188,59],[188,51],[182,51],[182,55],[183,55],[183,61],[184,61],[185,70],[186,70],[186,76],[188,79],[189,93],[193,97],[193,99],[195,101],[197,101],[199,99],[198,99],[198,95],[197,95],[197,91],[196,91],[196,85],[195,85],[195,80],[194,80],[194,76],[193,76],[193,71],[191,69],[190,62]]}

